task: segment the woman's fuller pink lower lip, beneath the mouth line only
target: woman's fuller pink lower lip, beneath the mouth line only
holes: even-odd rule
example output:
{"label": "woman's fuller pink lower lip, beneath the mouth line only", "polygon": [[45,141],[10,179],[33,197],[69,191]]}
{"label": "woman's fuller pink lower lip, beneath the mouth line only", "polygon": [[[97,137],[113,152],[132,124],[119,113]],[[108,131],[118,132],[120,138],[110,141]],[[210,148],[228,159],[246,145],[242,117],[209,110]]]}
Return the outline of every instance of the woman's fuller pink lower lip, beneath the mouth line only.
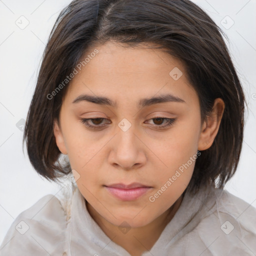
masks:
{"label": "woman's fuller pink lower lip, beneath the mouth line only", "polygon": [[136,187],[131,189],[122,189],[117,187],[105,186],[105,188],[115,197],[123,201],[136,200],[145,194],[151,187]]}

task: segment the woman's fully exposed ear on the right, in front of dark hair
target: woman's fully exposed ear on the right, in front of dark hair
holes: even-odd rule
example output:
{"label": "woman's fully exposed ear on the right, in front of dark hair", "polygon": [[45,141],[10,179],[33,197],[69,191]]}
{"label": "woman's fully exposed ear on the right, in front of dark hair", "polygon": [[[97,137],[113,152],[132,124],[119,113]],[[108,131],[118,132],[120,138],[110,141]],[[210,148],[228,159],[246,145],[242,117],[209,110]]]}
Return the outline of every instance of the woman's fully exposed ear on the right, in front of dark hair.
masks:
{"label": "woman's fully exposed ear on the right, in front of dark hair", "polygon": [[221,98],[216,98],[211,114],[202,124],[201,133],[198,140],[198,150],[208,149],[217,135],[220,121],[224,112],[225,103]]}

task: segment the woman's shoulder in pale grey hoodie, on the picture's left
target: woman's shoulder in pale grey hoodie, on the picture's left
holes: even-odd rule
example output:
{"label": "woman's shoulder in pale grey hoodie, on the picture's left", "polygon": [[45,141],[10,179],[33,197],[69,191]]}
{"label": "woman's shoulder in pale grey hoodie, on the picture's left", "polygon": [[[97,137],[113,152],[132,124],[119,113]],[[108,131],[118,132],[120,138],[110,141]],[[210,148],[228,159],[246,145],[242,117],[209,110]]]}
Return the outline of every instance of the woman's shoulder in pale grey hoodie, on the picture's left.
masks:
{"label": "woman's shoulder in pale grey hoodie, on the picture's left", "polygon": [[47,194],[21,212],[3,239],[0,255],[62,255],[67,201]]}

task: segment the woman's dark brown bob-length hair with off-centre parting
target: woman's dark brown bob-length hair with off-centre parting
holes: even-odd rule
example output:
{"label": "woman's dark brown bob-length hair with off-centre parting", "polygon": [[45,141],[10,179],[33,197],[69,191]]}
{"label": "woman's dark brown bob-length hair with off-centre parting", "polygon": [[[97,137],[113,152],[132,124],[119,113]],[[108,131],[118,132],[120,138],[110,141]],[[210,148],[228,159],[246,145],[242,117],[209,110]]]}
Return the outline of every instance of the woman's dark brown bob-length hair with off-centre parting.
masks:
{"label": "woman's dark brown bob-length hair with off-centre parting", "polygon": [[202,121],[215,98],[225,103],[218,133],[213,144],[200,151],[187,187],[194,192],[206,185],[223,188],[237,168],[245,102],[221,34],[213,20],[189,0],[72,1],[50,32],[28,110],[23,145],[25,141],[34,169],[53,181],[71,171],[69,162],[61,161],[53,134],[68,82],[57,92],[56,87],[86,51],[109,40],[124,47],[151,43],[184,64],[199,98]]}

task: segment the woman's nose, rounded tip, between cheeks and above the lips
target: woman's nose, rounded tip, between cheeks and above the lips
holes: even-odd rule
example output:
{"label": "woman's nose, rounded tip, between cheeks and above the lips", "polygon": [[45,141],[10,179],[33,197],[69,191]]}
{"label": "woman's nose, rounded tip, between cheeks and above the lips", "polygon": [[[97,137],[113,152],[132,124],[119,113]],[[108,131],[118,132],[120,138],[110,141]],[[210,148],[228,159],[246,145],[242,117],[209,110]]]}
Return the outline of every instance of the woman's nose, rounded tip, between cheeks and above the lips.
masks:
{"label": "woman's nose, rounded tip, between cheeks and above the lips", "polygon": [[108,161],[114,167],[131,170],[139,168],[146,162],[145,146],[130,127],[121,129],[112,139]]}

